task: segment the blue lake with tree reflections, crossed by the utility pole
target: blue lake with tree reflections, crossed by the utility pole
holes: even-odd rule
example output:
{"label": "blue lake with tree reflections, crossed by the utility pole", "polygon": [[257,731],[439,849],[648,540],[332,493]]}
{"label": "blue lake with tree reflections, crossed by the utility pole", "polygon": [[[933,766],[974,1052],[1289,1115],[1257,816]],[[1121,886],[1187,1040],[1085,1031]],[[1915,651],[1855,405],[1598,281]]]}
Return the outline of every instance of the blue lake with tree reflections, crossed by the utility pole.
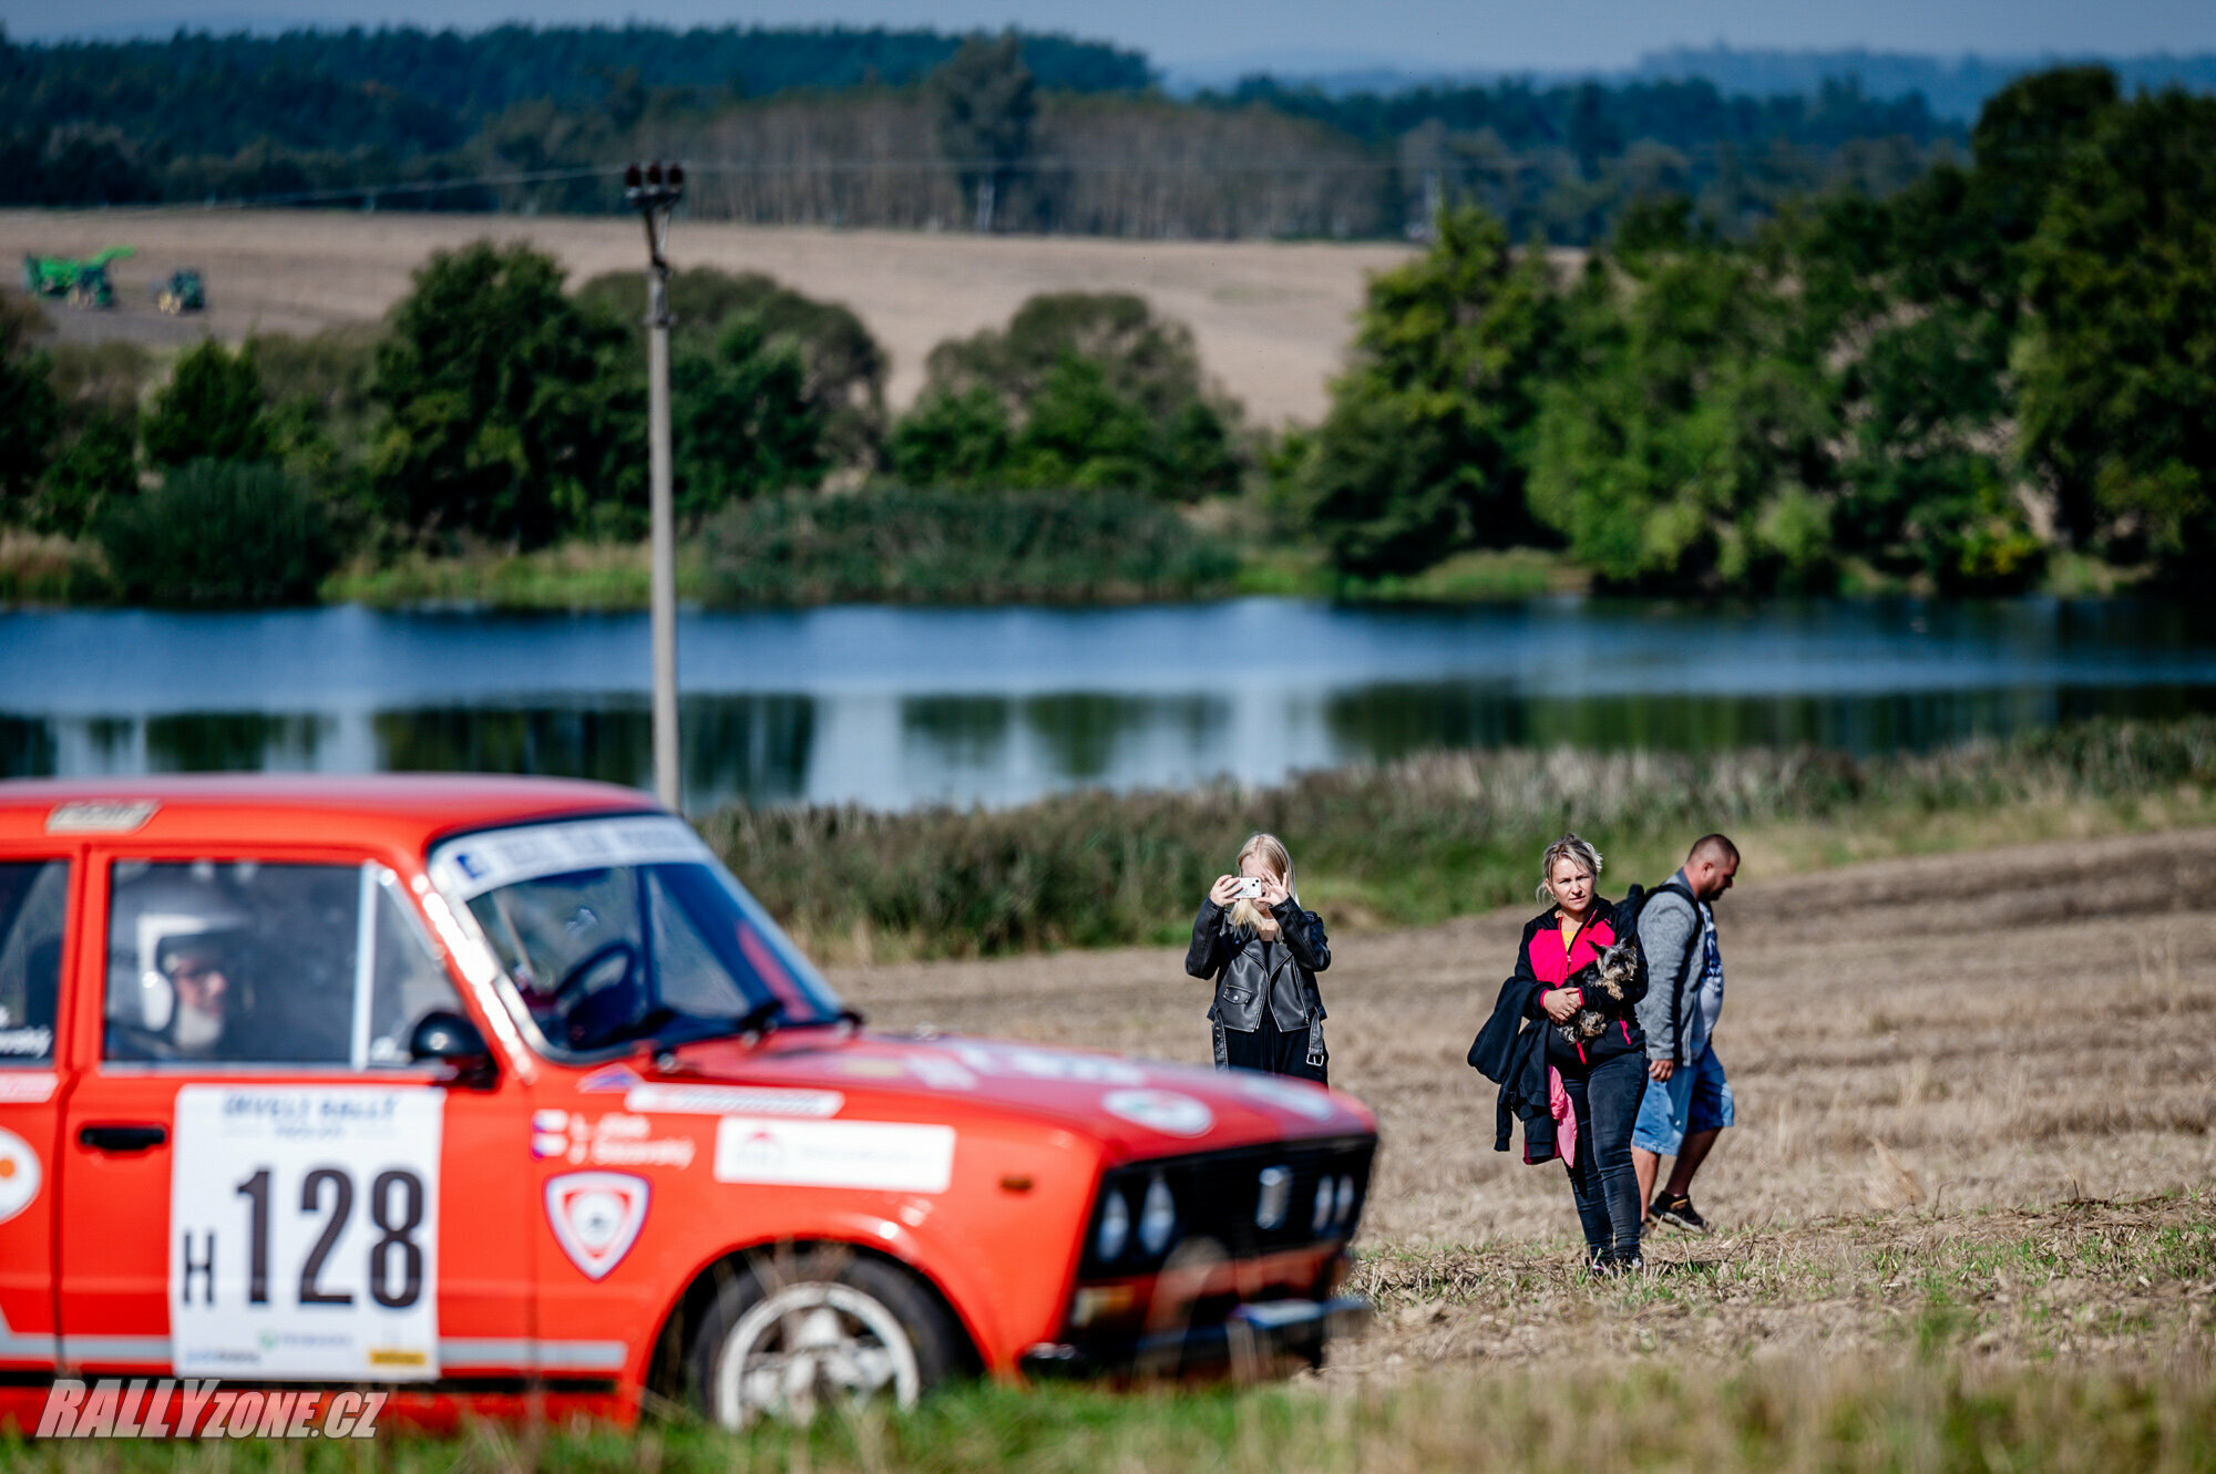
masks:
{"label": "blue lake with tree reflections, crossed by the utility pole", "polygon": [[[472,768],[652,783],[645,615],[0,615],[0,775]],[[1533,600],[680,617],[685,801],[1017,803],[1429,746],[1930,748],[2216,710],[2152,602]]]}

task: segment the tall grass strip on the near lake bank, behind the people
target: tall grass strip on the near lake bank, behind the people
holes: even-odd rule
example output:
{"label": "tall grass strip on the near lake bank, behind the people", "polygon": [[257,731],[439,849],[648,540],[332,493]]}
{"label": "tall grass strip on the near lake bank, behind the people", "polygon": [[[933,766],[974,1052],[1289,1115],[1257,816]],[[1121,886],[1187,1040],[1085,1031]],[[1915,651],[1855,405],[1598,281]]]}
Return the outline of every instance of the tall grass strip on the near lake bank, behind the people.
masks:
{"label": "tall grass strip on the near lake bank, behind the people", "polygon": [[995,954],[1168,941],[1254,830],[1285,837],[1301,894],[1334,925],[1409,925],[1531,901],[1567,828],[1660,881],[1704,830],[2023,806],[2141,801],[2216,786],[2216,722],[2103,722],[1932,755],[1706,757],[1427,752],[1279,788],[1073,792],[1010,810],[727,808],[702,819],[731,868],[831,954]]}

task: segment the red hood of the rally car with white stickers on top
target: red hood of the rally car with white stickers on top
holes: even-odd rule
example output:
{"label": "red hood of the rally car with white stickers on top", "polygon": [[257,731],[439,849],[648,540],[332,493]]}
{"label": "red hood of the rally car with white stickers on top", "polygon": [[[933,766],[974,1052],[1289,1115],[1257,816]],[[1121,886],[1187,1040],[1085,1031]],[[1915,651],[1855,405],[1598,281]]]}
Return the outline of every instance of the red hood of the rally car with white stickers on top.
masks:
{"label": "red hood of the rally car with white stickers on top", "polygon": [[[1090,1135],[1119,1158],[1376,1131],[1361,1100],[1307,1080],[968,1036],[796,1029],[756,1047],[680,1045],[654,1069],[614,1065],[585,1082],[625,1091],[638,1084],[654,1087],[649,1100],[696,1089],[700,1107],[722,1098],[729,1113],[780,1109],[776,1091],[813,1091],[782,1104],[860,1120],[1026,1115]],[[762,1104],[749,1107],[751,1093]]]}

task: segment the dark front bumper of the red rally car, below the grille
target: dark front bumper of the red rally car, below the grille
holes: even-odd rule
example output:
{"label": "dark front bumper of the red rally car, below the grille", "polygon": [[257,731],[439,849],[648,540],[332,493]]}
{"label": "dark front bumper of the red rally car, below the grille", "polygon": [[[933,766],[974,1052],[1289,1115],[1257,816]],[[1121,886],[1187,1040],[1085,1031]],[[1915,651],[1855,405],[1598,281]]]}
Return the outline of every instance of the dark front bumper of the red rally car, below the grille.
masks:
{"label": "dark front bumper of the red rally car, below the grille", "polygon": [[1234,1306],[1221,1321],[1155,1330],[1108,1341],[1042,1341],[1022,1354],[1028,1377],[1261,1377],[1287,1359],[1323,1361],[1332,1337],[1369,1326],[1361,1295],[1332,1299],[1263,1299]]}

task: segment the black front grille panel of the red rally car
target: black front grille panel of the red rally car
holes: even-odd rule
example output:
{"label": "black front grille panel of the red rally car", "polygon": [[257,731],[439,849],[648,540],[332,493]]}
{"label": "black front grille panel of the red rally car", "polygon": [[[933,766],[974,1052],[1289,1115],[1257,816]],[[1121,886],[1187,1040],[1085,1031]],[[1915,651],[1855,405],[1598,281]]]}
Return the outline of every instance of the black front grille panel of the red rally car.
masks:
{"label": "black front grille panel of the red rally car", "polygon": [[[1192,1239],[1212,1239],[1232,1259],[1343,1244],[1361,1222],[1374,1155],[1376,1138],[1354,1135],[1155,1158],[1110,1169],[1092,1200],[1079,1279],[1152,1273],[1179,1244]],[[1174,1228],[1150,1244],[1143,1222],[1157,1182],[1168,1191],[1177,1217]],[[1325,1197],[1321,1215],[1319,1195]],[[1101,1224],[1115,1211],[1110,1197],[1124,1200],[1128,1228],[1119,1253],[1104,1255]]]}

